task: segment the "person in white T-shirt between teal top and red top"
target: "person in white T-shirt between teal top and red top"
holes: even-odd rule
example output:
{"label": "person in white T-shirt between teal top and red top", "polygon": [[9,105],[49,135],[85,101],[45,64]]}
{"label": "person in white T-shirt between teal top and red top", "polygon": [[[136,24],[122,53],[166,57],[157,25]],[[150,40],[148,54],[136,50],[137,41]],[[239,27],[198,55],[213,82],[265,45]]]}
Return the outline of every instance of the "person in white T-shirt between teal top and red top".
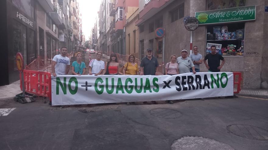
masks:
{"label": "person in white T-shirt between teal top and red top", "polygon": [[101,60],[102,53],[97,52],[97,59],[92,59],[89,62],[89,69],[88,74],[89,75],[102,75],[102,72],[104,70],[104,61]]}

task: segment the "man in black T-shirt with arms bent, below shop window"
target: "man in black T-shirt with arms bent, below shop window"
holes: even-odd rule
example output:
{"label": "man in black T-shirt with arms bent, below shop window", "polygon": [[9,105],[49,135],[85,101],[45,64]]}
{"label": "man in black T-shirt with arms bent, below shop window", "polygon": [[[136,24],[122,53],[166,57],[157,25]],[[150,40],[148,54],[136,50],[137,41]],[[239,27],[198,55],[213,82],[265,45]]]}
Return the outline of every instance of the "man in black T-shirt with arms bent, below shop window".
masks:
{"label": "man in black T-shirt with arms bent, below shop window", "polygon": [[[225,63],[225,59],[222,57],[222,55],[216,53],[215,45],[211,45],[210,50],[211,53],[207,54],[204,58],[204,64],[206,65],[208,72],[220,72],[220,69]],[[208,65],[206,63],[207,59],[208,59]],[[222,60],[221,65],[220,60]]]}

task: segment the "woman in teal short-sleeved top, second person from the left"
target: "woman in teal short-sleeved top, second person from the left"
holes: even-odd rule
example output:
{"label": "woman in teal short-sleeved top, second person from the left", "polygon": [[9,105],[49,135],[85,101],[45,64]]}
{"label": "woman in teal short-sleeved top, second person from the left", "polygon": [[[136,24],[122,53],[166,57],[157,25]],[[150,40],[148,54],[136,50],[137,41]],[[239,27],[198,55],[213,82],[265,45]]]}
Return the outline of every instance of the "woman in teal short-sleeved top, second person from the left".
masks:
{"label": "woman in teal short-sleeved top, second person from the left", "polygon": [[82,54],[77,53],[77,61],[72,62],[72,74],[73,75],[85,75],[86,64],[82,62]]}

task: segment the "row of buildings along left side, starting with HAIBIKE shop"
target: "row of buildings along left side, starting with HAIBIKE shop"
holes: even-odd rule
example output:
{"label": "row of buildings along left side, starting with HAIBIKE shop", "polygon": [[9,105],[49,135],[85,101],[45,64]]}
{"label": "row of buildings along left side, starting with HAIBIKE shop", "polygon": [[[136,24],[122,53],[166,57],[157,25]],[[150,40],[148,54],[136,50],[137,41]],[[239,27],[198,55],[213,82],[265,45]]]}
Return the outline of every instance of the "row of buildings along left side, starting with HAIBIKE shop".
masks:
{"label": "row of buildings along left side, starting with HAIBIKE shop", "polygon": [[[82,28],[76,25],[79,17],[71,22],[71,16],[75,16],[74,12],[78,12],[77,5],[75,0],[1,1],[1,16],[6,21],[1,28],[3,48],[1,62],[6,65],[1,67],[7,74],[1,78],[0,85],[19,80],[15,60],[17,52],[23,55],[25,66],[38,55],[50,62],[62,46],[67,46],[71,52],[72,48],[83,40]],[[75,11],[70,8],[75,8]],[[72,40],[73,32],[75,40]],[[45,65],[49,65],[48,61],[45,61]]]}

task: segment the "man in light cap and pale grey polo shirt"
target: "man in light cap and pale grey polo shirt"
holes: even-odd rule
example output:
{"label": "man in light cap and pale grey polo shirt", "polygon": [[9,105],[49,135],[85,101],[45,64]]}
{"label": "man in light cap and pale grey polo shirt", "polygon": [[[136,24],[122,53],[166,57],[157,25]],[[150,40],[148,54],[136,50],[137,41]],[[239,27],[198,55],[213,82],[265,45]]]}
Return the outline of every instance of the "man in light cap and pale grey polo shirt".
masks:
{"label": "man in light cap and pale grey polo shirt", "polygon": [[195,65],[192,62],[190,57],[187,57],[187,49],[182,49],[182,53],[180,57],[177,58],[177,63],[179,65],[179,73],[188,73],[190,72],[190,68],[192,68],[192,72],[195,74]]}

